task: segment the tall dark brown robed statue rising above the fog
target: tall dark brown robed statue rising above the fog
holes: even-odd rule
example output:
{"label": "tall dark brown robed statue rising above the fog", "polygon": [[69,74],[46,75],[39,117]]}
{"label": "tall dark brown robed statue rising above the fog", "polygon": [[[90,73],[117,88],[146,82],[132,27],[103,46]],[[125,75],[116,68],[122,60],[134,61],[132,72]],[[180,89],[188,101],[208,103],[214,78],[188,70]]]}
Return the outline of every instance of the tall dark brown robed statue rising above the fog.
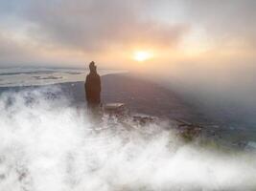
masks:
{"label": "tall dark brown robed statue rising above the fog", "polygon": [[97,74],[97,67],[92,61],[89,65],[90,74],[87,74],[84,84],[86,100],[89,108],[99,107],[101,104],[101,77]]}

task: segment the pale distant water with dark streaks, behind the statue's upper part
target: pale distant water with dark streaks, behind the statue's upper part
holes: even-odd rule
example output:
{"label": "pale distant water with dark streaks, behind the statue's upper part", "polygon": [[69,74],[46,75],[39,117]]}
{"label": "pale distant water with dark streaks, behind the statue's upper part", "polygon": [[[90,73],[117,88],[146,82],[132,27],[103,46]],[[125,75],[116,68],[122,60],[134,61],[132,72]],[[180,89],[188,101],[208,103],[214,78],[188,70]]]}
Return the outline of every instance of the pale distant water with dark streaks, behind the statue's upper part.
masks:
{"label": "pale distant water with dark streaks, behind the statue's upper part", "polygon": [[[100,75],[124,73],[117,70],[98,70]],[[84,81],[85,69],[4,68],[0,69],[0,87],[38,86],[64,82]]]}

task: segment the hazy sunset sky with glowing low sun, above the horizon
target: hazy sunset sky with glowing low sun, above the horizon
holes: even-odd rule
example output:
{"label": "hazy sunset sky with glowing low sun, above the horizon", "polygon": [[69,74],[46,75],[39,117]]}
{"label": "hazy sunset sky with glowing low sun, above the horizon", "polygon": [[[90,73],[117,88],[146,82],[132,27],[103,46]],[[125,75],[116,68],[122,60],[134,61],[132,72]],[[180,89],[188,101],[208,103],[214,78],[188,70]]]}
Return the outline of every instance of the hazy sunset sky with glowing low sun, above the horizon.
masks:
{"label": "hazy sunset sky with glowing low sun, above the horizon", "polygon": [[[101,68],[160,72],[205,63],[250,68],[255,8],[254,0],[0,0],[0,67],[95,60]],[[138,61],[138,53],[148,59]]]}

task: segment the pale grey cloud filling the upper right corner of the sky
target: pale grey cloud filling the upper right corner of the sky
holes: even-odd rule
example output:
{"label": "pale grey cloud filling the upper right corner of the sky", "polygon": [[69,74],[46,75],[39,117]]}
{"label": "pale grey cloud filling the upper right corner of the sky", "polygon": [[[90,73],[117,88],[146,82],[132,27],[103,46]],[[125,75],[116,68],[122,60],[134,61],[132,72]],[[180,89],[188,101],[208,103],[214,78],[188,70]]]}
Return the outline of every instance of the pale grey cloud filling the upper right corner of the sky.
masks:
{"label": "pale grey cloud filling the upper right corner of the sky", "polygon": [[[227,1],[188,1],[187,15],[194,23],[202,25],[218,43],[224,44],[229,40],[244,41],[251,45],[255,42],[256,2],[253,0]],[[256,44],[253,43],[255,49]]]}

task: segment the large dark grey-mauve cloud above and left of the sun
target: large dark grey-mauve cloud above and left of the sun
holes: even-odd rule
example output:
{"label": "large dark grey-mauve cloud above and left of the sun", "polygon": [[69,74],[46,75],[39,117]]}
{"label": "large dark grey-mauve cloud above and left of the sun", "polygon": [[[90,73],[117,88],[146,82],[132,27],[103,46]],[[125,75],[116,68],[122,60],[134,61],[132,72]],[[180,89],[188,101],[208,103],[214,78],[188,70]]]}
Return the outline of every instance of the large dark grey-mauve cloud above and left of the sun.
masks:
{"label": "large dark grey-mauve cloud above and left of the sun", "polygon": [[84,52],[132,43],[172,46],[187,26],[143,21],[142,1],[33,1],[25,15],[34,35]]}

